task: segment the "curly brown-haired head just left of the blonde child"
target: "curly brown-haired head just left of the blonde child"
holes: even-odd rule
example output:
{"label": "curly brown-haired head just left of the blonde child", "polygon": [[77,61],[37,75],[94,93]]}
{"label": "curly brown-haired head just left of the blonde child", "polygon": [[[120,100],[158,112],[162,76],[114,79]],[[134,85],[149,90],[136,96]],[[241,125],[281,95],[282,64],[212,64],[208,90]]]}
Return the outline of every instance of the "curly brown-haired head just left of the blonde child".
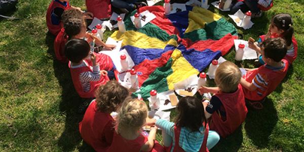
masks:
{"label": "curly brown-haired head just left of the blonde child", "polygon": [[129,95],[127,88],[117,81],[109,81],[101,85],[96,92],[98,110],[105,113],[116,111]]}

